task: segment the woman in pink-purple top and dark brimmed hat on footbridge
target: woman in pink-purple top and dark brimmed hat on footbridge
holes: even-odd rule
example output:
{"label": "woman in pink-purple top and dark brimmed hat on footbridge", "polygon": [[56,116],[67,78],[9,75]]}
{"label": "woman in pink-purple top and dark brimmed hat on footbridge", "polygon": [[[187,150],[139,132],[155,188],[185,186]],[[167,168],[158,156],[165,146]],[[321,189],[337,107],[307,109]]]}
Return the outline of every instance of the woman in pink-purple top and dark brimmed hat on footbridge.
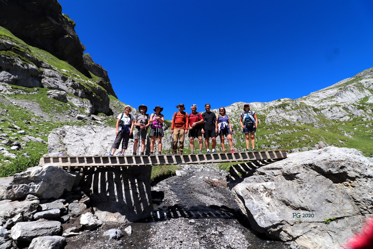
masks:
{"label": "woman in pink-purple top and dark brimmed hat on footbridge", "polygon": [[164,117],[161,111],[163,111],[163,107],[157,105],[156,108],[153,109],[155,113],[150,115],[150,155],[154,155],[154,144],[156,143],[156,138],[158,138],[158,155],[162,154],[162,137],[163,137],[163,122]]}

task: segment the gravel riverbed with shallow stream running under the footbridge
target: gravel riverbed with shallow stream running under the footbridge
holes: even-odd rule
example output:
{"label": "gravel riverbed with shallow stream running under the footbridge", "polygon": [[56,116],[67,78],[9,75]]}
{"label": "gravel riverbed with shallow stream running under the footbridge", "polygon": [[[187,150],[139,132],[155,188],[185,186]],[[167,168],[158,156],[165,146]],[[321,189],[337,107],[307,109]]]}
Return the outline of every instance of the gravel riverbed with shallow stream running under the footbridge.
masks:
{"label": "gravel riverbed with shallow stream running under the footbridge", "polygon": [[[226,172],[213,165],[184,165],[173,176],[152,187],[154,217],[128,225],[104,223],[94,231],[67,238],[66,249],[282,249],[300,248],[273,241],[252,230],[228,187],[213,187],[204,180],[225,185]],[[125,233],[131,225],[132,234]],[[103,233],[123,231],[120,240]]]}

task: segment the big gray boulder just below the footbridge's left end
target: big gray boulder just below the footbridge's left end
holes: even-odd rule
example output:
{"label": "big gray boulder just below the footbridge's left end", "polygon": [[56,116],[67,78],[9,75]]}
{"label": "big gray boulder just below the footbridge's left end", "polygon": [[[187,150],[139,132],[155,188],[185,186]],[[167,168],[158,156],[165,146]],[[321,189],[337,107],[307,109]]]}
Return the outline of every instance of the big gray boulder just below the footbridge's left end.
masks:
{"label": "big gray boulder just below the footbridge's left end", "polygon": [[46,165],[33,167],[13,176],[15,198],[28,194],[41,199],[58,198],[64,191],[70,191],[75,175],[69,174],[58,166]]}

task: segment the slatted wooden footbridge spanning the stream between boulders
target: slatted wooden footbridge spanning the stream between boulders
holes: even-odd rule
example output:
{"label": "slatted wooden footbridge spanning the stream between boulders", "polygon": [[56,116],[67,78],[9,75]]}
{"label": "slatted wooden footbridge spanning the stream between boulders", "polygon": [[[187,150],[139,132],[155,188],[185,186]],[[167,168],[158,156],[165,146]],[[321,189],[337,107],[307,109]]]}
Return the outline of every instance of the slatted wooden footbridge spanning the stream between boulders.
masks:
{"label": "slatted wooden footbridge spanning the stream between boulders", "polygon": [[245,162],[252,160],[279,160],[286,158],[286,150],[248,151],[236,153],[113,156],[113,157],[42,157],[40,166],[60,167],[123,167],[140,165],[179,165],[194,163]]}

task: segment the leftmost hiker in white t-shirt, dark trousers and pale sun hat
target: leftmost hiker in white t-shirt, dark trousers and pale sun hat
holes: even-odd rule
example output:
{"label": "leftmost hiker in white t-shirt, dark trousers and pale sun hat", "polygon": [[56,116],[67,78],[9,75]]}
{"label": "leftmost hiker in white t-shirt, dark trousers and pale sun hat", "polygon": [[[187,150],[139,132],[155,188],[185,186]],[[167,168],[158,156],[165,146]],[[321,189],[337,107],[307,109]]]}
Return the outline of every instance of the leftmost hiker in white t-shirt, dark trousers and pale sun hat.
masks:
{"label": "leftmost hiker in white t-shirt, dark trousers and pale sun hat", "polygon": [[[113,144],[113,149],[112,152],[108,155],[113,156],[117,148],[119,148],[120,141],[122,141],[122,152],[120,156],[124,156],[124,152],[128,146],[128,140],[129,137],[132,135],[132,130],[134,129],[134,116],[129,114],[132,111],[132,108],[129,105],[126,105],[123,107],[123,113],[119,114],[118,119],[117,119],[117,124],[116,124],[116,129],[115,129],[115,135],[116,139]],[[123,122],[123,124],[120,127],[119,130],[119,123]]]}

